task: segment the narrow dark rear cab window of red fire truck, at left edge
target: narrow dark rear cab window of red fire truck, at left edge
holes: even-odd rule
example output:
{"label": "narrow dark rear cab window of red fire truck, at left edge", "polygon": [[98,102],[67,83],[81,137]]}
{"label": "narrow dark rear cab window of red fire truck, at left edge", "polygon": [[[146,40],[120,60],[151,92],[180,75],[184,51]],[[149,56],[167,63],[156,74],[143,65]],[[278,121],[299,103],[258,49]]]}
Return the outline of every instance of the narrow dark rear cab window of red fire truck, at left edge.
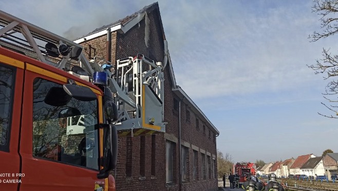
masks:
{"label": "narrow dark rear cab window of red fire truck, at left edge", "polygon": [[0,65],[0,150],[9,151],[15,69]]}

